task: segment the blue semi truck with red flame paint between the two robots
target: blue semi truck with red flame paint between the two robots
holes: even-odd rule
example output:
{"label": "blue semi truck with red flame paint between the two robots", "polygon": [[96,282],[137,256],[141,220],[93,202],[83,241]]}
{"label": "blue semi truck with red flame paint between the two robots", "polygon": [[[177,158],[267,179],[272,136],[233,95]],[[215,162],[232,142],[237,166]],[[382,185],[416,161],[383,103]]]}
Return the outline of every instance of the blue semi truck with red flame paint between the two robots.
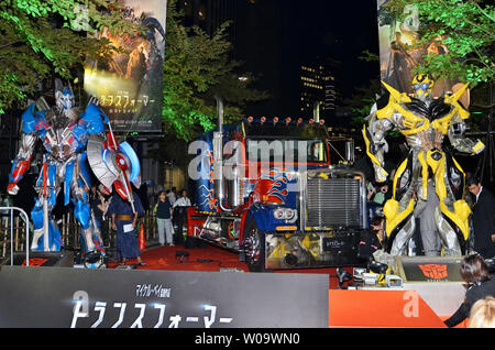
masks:
{"label": "blue semi truck with red flame paint between the two robots", "polygon": [[188,236],[239,252],[251,271],[354,264],[365,178],[329,155],[314,120],[249,118],[202,134]]}

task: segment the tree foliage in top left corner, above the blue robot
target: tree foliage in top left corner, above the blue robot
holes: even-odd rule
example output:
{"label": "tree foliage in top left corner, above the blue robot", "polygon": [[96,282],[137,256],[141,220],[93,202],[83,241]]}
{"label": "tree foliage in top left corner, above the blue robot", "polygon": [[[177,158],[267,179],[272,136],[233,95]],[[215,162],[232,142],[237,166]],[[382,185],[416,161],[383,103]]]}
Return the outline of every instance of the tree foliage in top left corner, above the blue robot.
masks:
{"label": "tree foliage in top left corner, above the blue robot", "polygon": [[106,0],[2,0],[0,2],[0,114],[33,97],[36,86],[57,75],[82,72],[87,57],[109,57],[108,41],[88,37],[102,28],[139,31]]}

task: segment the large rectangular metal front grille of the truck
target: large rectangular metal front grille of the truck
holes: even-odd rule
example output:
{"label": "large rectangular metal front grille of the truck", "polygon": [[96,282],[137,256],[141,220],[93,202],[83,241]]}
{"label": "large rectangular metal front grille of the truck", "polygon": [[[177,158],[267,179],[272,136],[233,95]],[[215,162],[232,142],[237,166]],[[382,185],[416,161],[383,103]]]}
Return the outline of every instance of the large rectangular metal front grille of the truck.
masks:
{"label": "large rectangular metal front grille of the truck", "polygon": [[361,227],[361,184],[355,178],[308,178],[306,227]]}

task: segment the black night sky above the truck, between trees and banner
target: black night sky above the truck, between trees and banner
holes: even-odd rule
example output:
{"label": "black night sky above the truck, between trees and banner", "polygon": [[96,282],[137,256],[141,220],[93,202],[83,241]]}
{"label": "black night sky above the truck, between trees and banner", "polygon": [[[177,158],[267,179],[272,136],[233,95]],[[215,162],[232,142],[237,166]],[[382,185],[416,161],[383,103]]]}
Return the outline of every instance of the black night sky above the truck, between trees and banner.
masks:
{"label": "black night sky above the truck, between trees and banner", "polygon": [[257,87],[273,95],[249,107],[250,114],[299,117],[301,64],[337,61],[332,74],[342,96],[378,76],[377,62],[358,59],[365,50],[378,54],[376,1],[257,0],[244,7],[237,19],[235,58],[262,75]]}

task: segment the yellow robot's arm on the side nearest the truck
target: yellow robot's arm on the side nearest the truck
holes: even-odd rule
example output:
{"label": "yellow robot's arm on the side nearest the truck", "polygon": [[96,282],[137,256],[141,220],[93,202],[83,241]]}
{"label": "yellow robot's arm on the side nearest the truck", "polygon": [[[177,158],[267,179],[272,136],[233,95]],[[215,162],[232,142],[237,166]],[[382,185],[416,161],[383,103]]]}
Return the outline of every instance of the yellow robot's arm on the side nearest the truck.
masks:
{"label": "yellow robot's arm on the side nearest the truck", "polygon": [[363,128],[363,136],[366,145],[366,154],[372,161],[375,171],[375,179],[378,183],[383,183],[388,176],[388,173],[384,168],[384,153],[388,152],[385,133],[394,125],[388,119],[377,119],[376,112],[373,109],[367,128],[366,125]]}

